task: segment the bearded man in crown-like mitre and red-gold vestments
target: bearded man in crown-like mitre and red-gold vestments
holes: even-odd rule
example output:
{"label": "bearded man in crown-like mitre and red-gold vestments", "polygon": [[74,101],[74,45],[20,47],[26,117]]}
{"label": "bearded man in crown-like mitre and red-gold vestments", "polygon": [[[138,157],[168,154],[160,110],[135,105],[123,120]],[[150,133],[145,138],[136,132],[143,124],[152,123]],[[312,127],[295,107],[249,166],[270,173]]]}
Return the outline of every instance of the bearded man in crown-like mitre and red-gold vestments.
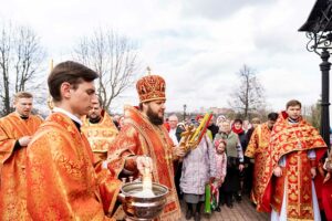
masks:
{"label": "bearded man in crown-like mitre and red-gold vestments", "polygon": [[[159,75],[142,77],[136,90],[139,107],[125,106],[124,127],[108,150],[108,168],[115,176],[137,177],[135,159],[149,156],[153,164],[153,181],[169,189],[166,206],[157,220],[180,220],[180,206],[174,183],[173,162],[185,155],[185,150],[174,146],[164,126],[165,81]],[[131,152],[125,151],[129,149]],[[125,166],[125,168],[123,167]]]}

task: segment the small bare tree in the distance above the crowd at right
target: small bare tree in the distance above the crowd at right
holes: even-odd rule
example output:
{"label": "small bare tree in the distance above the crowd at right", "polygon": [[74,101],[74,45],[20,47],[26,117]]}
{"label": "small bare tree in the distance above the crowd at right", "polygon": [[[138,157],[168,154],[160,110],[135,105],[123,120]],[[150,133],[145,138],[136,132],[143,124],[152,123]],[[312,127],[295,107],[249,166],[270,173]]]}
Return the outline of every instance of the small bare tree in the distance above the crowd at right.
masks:
{"label": "small bare tree in the distance above the crowd at right", "polygon": [[258,110],[264,105],[263,87],[256,76],[256,72],[246,64],[237,73],[240,84],[231,93],[229,105],[248,118],[250,113]]}

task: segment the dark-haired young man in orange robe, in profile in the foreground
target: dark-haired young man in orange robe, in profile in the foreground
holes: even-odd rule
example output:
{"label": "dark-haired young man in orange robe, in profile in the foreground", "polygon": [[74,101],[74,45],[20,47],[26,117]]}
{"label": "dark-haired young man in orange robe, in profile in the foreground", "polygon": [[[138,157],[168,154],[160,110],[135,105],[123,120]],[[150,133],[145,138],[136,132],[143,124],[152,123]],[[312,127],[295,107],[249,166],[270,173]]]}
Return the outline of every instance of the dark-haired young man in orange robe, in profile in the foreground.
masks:
{"label": "dark-haired young man in orange robe, in profile in the foreground", "polygon": [[[103,178],[114,193],[112,199],[107,194],[108,204],[103,207],[93,152],[81,131],[81,118],[97,99],[96,77],[91,69],[68,61],[58,64],[48,78],[55,107],[33,136],[27,154],[27,206],[32,220],[112,219],[105,213],[112,210],[122,182]],[[138,167],[147,166],[138,162]]]}

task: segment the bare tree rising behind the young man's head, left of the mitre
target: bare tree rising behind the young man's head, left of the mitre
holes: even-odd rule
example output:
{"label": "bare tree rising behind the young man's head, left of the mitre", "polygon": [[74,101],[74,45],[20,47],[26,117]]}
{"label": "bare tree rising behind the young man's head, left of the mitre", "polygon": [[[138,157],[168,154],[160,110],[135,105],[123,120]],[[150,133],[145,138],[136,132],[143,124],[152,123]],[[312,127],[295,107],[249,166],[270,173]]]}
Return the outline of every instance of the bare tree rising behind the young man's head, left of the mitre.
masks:
{"label": "bare tree rising behind the young man's head, left of the mitre", "polygon": [[98,29],[92,36],[82,38],[74,49],[74,57],[100,74],[97,93],[105,109],[134,83],[136,45],[113,30]]}

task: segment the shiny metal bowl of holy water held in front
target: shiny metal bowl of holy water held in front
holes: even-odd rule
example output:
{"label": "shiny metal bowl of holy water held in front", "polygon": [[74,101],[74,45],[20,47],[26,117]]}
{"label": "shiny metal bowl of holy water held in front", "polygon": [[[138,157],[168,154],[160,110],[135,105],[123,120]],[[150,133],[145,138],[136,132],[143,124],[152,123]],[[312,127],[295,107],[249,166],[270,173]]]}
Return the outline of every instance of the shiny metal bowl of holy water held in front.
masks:
{"label": "shiny metal bowl of holy water held in front", "polygon": [[131,220],[147,221],[157,218],[165,204],[168,188],[155,182],[133,181],[124,183],[118,199]]}

